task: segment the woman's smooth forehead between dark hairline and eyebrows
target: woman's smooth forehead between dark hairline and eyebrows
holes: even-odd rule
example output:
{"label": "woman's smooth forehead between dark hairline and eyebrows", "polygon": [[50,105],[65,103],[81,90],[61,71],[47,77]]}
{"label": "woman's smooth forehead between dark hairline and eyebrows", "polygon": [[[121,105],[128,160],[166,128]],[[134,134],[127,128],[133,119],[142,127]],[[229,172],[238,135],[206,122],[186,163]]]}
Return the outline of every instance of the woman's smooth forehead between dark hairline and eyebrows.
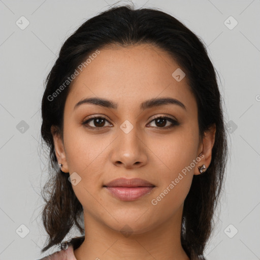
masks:
{"label": "woman's smooth forehead between dark hairline and eyebrows", "polygon": [[82,98],[101,97],[118,103],[120,109],[123,105],[134,107],[144,100],[170,96],[195,109],[187,79],[177,81],[173,77],[181,68],[167,52],[150,44],[113,45],[99,51],[92,58],[89,54],[86,68],[72,82],[67,106],[75,106]]}

